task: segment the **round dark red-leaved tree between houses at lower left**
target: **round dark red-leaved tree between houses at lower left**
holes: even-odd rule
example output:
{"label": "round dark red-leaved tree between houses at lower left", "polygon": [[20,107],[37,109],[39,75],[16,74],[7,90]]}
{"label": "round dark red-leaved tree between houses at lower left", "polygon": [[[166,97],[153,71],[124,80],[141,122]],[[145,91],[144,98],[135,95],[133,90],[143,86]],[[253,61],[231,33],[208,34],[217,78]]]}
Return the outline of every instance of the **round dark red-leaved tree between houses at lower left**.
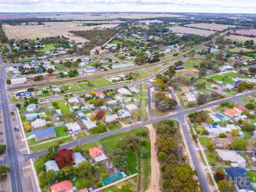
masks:
{"label": "round dark red-leaved tree between houses at lower left", "polygon": [[74,161],[73,159],[73,150],[68,150],[67,148],[63,148],[56,154],[54,160],[58,164],[59,168],[63,168],[64,166],[69,166]]}

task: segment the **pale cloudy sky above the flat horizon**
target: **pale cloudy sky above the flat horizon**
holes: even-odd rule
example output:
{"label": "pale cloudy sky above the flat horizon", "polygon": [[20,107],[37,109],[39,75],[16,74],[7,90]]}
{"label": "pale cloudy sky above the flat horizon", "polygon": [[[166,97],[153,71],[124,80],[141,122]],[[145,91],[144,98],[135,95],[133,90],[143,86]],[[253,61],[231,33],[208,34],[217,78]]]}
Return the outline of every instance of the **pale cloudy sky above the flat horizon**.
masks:
{"label": "pale cloudy sky above the flat horizon", "polygon": [[256,13],[256,0],[0,0],[0,12]]}

